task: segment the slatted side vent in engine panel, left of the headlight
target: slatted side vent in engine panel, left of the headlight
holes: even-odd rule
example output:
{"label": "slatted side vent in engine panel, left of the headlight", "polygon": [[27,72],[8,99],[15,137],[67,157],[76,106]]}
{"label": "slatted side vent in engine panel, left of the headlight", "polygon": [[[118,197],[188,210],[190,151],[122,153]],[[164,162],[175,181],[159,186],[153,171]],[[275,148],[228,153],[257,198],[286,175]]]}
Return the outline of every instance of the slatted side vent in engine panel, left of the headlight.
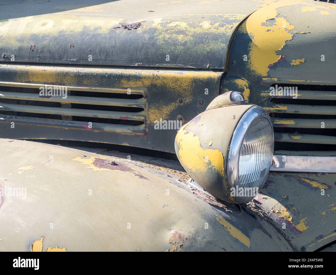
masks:
{"label": "slatted side vent in engine panel, left of the headlight", "polygon": [[56,127],[145,134],[146,100],[136,88],[54,86],[67,96],[41,96],[39,84],[0,83],[0,114],[27,124],[52,121]]}

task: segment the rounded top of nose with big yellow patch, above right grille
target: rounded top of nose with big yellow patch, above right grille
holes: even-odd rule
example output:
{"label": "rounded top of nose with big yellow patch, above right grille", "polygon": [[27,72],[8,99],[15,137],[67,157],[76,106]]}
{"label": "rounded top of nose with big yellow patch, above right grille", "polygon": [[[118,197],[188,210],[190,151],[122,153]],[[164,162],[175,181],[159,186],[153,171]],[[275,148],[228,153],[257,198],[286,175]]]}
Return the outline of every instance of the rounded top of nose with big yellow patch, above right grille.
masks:
{"label": "rounded top of nose with big yellow patch, above right grille", "polygon": [[[281,0],[260,8],[236,33],[228,72],[253,85],[261,78],[280,83],[335,83],[336,57],[327,50],[335,45],[335,22],[331,20],[335,14],[335,5],[309,0]],[[304,60],[295,62],[300,59]],[[257,101],[258,93],[250,99]]]}

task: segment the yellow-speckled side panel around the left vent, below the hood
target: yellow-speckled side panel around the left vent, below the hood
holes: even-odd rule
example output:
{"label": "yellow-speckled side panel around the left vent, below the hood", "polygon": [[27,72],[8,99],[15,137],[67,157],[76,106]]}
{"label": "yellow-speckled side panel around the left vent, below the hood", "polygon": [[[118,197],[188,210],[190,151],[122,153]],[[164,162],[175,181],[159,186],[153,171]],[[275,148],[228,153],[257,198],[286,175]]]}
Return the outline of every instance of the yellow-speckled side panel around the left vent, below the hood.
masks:
{"label": "yellow-speckled side panel around the left vent, below the hood", "polygon": [[[60,87],[67,87],[68,90],[82,92],[122,93],[125,95],[130,92],[131,94],[143,95],[146,101],[144,112],[141,114],[122,113],[116,117],[108,113],[105,116],[144,121],[144,126],[141,127],[117,124],[100,127],[99,123],[92,123],[95,127],[88,129],[87,125],[90,122],[90,117],[98,116],[99,112],[96,110],[82,109],[81,115],[87,117],[87,121],[82,123],[59,121],[57,119],[26,118],[27,115],[1,114],[1,137],[19,139],[55,139],[57,137],[57,139],[66,140],[123,144],[174,153],[174,139],[178,129],[155,129],[157,122],[160,122],[161,119],[163,122],[166,121],[167,124],[174,121],[175,125],[177,121],[184,124],[204,111],[212,99],[219,95],[222,73],[192,70],[140,70],[137,68],[125,70],[123,68],[107,67],[1,64],[0,75],[0,86],[3,85],[4,87],[25,89],[39,88],[44,85],[59,85]],[[3,90],[4,87],[1,87],[0,90]],[[30,111],[36,113],[47,112],[64,115],[77,113],[72,108],[39,108],[38,106],[30,107],[25,104],[8,106],[8,103],[1,103],[3,98],[0,96],[0,106],[6,109],[24,108],[27,111],[30,108]],[[69,99],[71,99],[71,96],[66,100]],[[182,100],[182,103],[179,103],[179,100]],[[129,103],[132,104],[133,101],[130,99]],[[10,127],[11,122],[15,123],[15,128]],[[113,138],[111,137],[111,131],[115,132]],[[127,133],[127,135],[123,135],[121,132]],[[143,135],[129,135],[133,133],[143,133]],[[162,142],[162,140],[165,142]]]}

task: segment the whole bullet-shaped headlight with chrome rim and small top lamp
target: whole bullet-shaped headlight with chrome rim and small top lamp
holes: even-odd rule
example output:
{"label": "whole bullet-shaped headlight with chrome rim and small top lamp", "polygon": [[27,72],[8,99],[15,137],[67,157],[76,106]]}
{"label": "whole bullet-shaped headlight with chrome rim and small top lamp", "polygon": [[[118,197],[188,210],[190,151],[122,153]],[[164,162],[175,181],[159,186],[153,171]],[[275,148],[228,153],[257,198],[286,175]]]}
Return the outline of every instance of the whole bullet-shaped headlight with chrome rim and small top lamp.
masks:
{"label": "whole bullet-shaped headlight with chrome rim and small top lamp", "polygon": [[239,92],[216,97],[175,138],[186,172],[215,197],[250,201],[265,183],[274,150],[268,114]]}

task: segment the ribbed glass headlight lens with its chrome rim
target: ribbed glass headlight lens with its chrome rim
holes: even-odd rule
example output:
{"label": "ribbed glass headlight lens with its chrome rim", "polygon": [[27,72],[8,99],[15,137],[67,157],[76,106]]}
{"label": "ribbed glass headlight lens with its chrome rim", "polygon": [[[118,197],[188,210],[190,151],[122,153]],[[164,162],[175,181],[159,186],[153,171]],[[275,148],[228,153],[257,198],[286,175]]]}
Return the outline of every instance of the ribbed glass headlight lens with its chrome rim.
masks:
{"label": "ribbed glass headlight lens with its chrome rim", "polygon": [[236,189],[233,196],[237,202],[250,201],[265,183],[273,150],[274,134],[268,114],[253,106],[239,121],[227,158],[227,184],[230,191]]}

